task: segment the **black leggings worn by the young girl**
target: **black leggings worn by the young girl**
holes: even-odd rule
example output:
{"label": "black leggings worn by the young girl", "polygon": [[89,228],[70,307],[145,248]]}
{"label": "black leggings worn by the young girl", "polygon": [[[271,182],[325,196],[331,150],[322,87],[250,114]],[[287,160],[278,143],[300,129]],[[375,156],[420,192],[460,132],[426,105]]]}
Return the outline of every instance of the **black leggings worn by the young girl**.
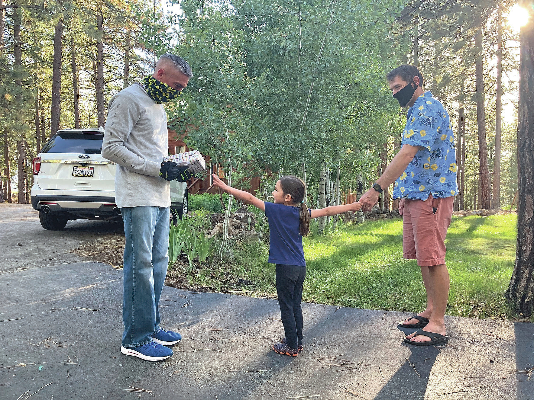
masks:
{"label": "black leggings worn by the young girl", "polygon": [[287,346],[296,349],[302,345],[302,285],[306,267],[276,265],[276,291],[280,305],[280,318],[286,332]]}

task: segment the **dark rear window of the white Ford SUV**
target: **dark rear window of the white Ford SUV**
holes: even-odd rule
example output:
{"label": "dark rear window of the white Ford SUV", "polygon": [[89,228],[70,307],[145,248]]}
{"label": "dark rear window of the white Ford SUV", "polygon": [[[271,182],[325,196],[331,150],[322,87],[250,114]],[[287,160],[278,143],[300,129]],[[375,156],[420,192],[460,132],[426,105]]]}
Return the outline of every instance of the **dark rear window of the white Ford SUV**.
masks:
{"label": "dark rear window of the white Ford SUV", "polygon": [[104,132],[58,132],[41,153],[101,154]]}

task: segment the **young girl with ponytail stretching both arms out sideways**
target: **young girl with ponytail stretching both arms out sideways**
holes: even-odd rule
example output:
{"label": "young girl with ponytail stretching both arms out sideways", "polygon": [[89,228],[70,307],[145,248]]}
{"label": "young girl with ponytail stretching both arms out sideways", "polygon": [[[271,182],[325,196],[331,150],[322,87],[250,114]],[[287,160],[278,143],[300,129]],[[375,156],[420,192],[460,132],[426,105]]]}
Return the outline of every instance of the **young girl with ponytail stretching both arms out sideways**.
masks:
{"label": "young girl with ponytail stretching both arms out sideways", "polygon": [[302,236],[310,233],[310,217],[358,211],[362,204],[334,205],[320,210],[309,210],[302,203],[306,188],[304,182],[288,175],[274,186],[274,203],[254,197],[246,191],[226,185],[213,174],[214,185],[245,203],[265,211],[269,221],[269,262],[276,264],[276,291],[280,305],[280,317],[286,337],[272,349],[279,354],[298,356],[302,351],[302,285],[306,276],[306,261],[302,248]]}

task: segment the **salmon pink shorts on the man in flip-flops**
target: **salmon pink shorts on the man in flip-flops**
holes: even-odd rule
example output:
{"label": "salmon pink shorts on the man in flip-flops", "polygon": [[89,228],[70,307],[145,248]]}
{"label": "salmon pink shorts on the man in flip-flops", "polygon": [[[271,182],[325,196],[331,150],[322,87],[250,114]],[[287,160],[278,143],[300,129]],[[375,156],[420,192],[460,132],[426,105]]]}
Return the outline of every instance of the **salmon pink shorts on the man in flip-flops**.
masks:
{"label": "salmon pink shorts on the man in flip-flops", "polygon": [[[451,225],[454,196],[406,199],[403,209],[403,255],[420,267],[445,263],[445,236]],[[434,212],[433,207],[437,207]]]}

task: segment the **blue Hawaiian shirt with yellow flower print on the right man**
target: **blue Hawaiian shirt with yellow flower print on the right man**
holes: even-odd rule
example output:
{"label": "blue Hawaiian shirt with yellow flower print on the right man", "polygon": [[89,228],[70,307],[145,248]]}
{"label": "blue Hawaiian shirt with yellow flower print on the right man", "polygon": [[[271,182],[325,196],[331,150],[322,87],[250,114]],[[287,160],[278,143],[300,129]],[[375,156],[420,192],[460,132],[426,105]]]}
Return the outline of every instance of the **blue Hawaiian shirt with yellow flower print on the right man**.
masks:
{"label": "blue Hawaiian shirt with yellow flower print on the right man", "polygon": [[422,146],[395,181],[393,197],[426,200],[459,193],[456,149],[449,113],[432,93],[425,92],[408,110],[402,145]]}

